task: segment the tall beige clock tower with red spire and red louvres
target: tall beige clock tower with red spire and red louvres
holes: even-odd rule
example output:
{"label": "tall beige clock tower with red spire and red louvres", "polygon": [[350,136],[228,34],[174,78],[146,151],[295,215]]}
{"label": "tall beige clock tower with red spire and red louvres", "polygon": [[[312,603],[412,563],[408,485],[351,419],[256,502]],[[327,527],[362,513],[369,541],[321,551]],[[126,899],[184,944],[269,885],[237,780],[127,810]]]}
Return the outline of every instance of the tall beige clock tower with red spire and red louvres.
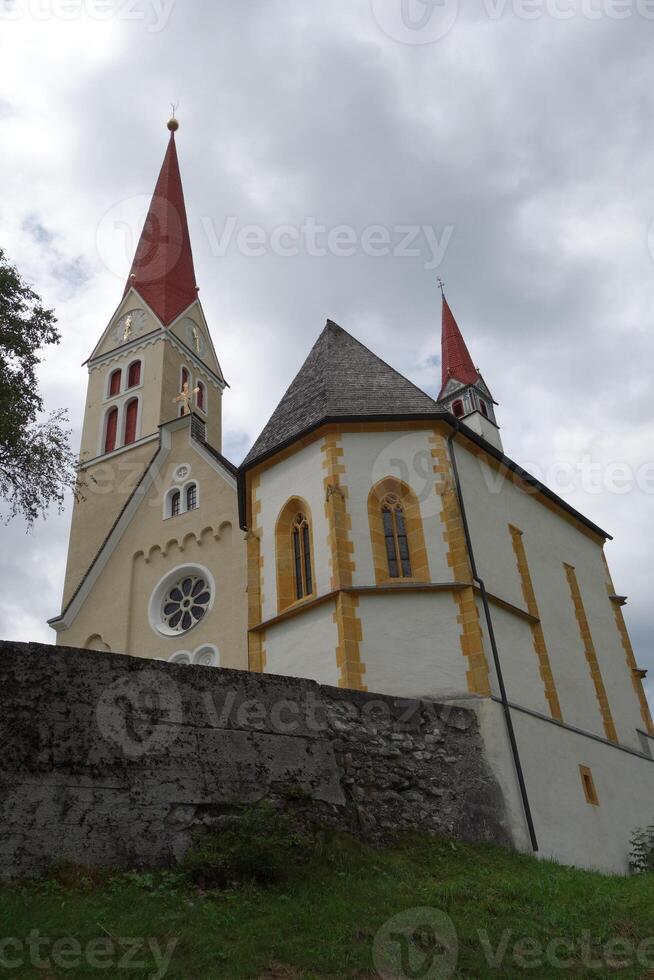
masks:
{"label": "tall beige clock tower with red spire and red louvres", "polygon": [[68,602],[134,491],[159,427],[192,413],[221,449],[226,386],[198,298],[184,193],[170,138],[120,304],[86,362],[89,371],[64,587]]}

